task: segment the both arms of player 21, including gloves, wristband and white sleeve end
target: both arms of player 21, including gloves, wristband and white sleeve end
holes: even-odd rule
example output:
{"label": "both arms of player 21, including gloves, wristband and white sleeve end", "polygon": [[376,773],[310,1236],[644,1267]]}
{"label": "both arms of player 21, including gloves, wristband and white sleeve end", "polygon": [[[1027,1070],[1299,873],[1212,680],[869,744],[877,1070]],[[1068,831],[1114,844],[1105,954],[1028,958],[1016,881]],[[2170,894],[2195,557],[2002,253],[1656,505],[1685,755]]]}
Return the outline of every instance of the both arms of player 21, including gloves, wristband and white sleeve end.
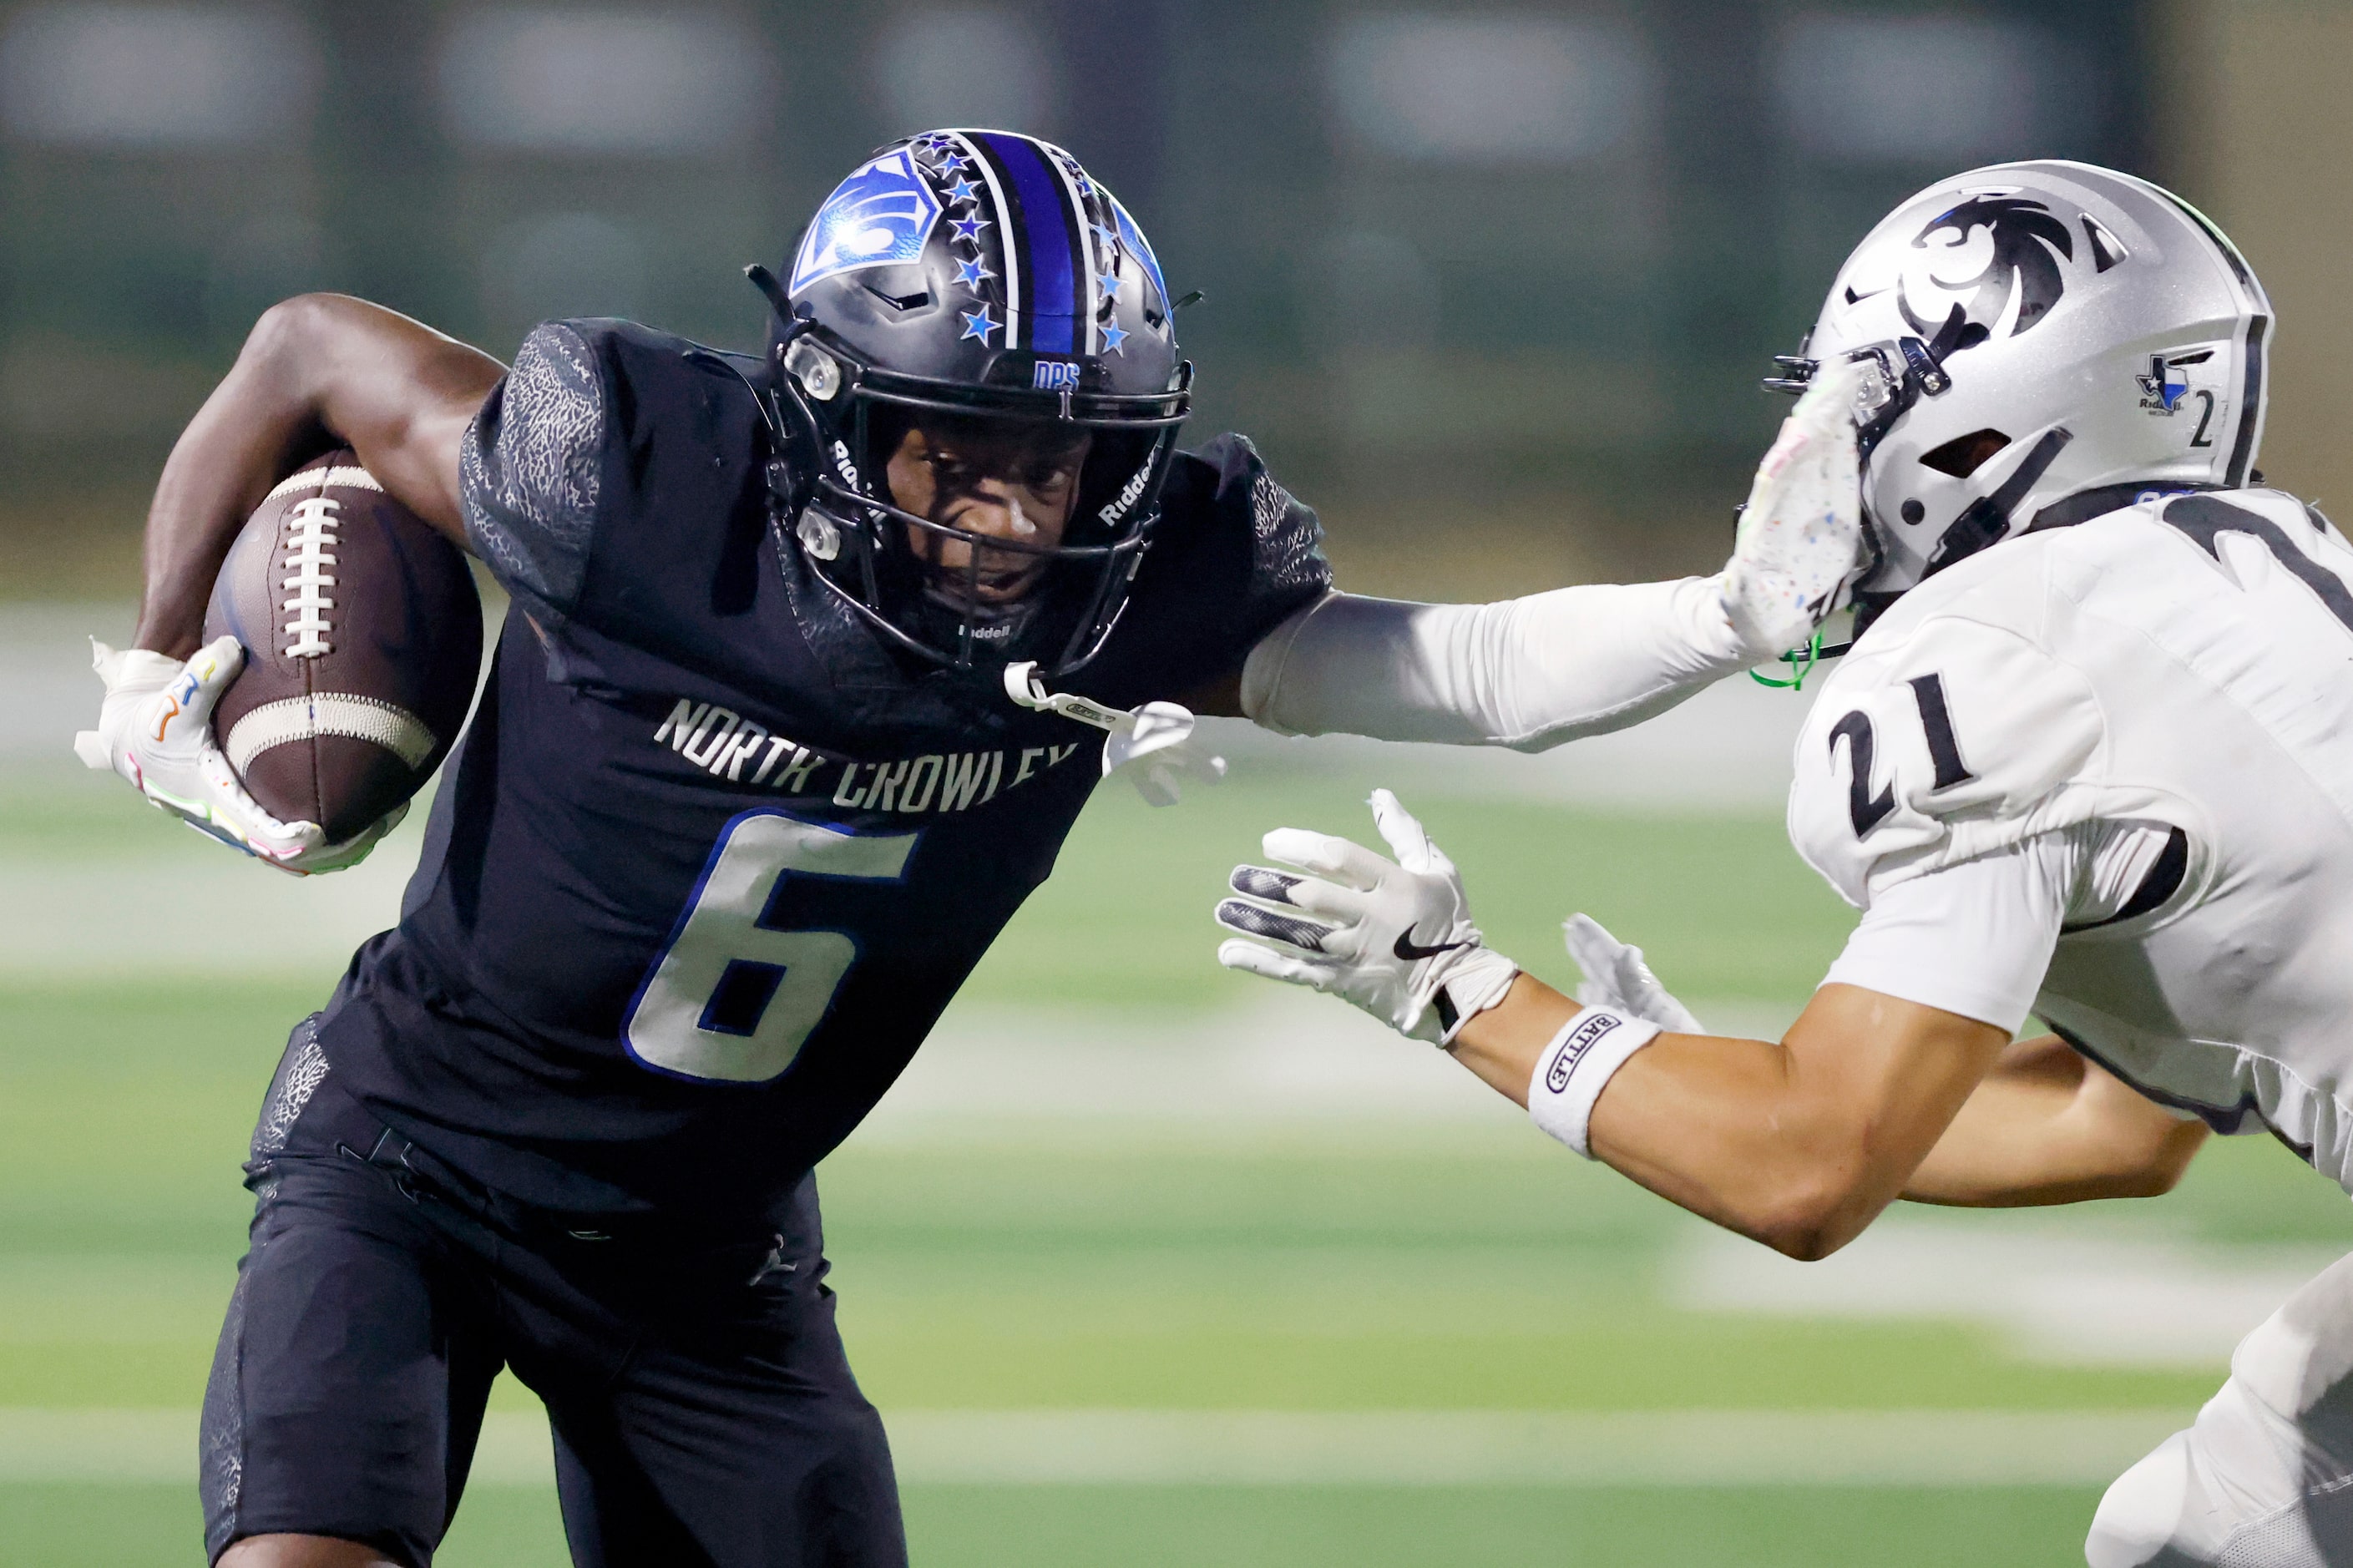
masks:
{"label": "both arms of player 21, including gloves, wristband and white sleeve end", "polygon": [[[1873,892],[1781,1041],[1697,1034],[1638,949],[1569,923],[1579,1001],[1487,954],[1461,878],[1386,791],[1398,859],[1278,829],[1238,866],[1219,961],[1334,991],[1447,1045],[1553,1137],[1791,1257],[1835,1253],[1899,1196],[2066,1203],[2162,1191],[2205,1128],[2057,1041],[2012,1048],[2078,890],[2139,897],[2146,824],[2080,824]],[[2073,1052],[2066,1052],[2073,1055]]]}

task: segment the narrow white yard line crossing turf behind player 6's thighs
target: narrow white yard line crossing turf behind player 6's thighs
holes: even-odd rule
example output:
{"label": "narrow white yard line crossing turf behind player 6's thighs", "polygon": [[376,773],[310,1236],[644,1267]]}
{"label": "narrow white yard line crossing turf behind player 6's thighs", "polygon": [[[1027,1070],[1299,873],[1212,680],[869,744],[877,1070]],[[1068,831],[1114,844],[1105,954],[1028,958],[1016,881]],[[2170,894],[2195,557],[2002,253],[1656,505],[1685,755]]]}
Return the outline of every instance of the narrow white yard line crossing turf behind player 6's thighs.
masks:
{"label": "narrow white yard line crossing turf behind player 6's thighs", "polygon": [[[2151,1410],[901,1410],[911,1486],[2099,1486]],[[195,1479],[193,1410],[0,1408],[0,1483]],[[475,1486],[553,1486],[539,1415],[494,1413]]]}

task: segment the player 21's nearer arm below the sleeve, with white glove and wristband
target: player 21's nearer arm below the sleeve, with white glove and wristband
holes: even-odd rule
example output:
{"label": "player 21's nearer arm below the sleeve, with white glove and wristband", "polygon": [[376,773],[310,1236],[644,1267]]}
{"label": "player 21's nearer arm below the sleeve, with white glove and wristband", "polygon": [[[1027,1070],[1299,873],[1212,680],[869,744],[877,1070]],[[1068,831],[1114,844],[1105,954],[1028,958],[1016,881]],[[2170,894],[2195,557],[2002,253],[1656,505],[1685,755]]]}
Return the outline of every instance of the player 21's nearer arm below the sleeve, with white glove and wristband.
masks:
{"label": "player 21's nearer arm below the sleeve, with white glove and wristband", "polygon": [[[1454,862],[1395,796],[1374,791],[1372,815],[1395,859],[1268,833],[1266,852],[1299,873],[1235,866],[1219,963],[1445,1045],[1579,1154],[1791,1257],[1871,1224],[2009,1043],[2000,1024],[1835,975],[1779,1043],[1682,1034],[1659,1019],[1689,1029],[1689,1012],[1591,923],[1572,928],[1579,1005],[1485,946]],[[1635,991],[1652,1017],[1626,1005]]]}

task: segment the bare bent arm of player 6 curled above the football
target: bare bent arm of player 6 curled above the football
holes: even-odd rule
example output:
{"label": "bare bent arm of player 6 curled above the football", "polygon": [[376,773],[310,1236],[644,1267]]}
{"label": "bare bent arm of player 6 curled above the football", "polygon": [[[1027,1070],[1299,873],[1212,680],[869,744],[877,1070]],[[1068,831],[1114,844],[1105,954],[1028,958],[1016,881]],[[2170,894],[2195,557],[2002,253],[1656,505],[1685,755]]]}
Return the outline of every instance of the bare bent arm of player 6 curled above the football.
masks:
{"label": "bare bent arm of player 6 curled above the football", "polygon": [[245,518],[304,459],[348,445],[400,504],[466,544],[456,452],[506,372],[480,348],[344,294],[271,306],[165,461],[136,647],[186,659]]}

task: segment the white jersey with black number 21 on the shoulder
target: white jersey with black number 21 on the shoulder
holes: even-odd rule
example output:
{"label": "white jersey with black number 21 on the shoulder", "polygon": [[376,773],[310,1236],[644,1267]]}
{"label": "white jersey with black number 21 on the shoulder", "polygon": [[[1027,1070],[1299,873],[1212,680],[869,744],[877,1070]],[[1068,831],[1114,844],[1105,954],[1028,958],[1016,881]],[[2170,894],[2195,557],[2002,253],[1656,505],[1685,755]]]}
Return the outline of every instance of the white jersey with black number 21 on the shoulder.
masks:
{"label": "white jersey with black number 21 on the shoulder", "polygon": [[[1937,972],[2047,965],[2033,1010],[2078,1050],[2353,1189],[2348,582],[2353,546],[2315,513],[2235,490],[2012,539],[1906,593],[1798,742],[1791,841],[1866,911],[1842,965],[2002,1026],[1948,1001],[2000,975]],[[1977,888],[2002,911],[1922,918]]]}

